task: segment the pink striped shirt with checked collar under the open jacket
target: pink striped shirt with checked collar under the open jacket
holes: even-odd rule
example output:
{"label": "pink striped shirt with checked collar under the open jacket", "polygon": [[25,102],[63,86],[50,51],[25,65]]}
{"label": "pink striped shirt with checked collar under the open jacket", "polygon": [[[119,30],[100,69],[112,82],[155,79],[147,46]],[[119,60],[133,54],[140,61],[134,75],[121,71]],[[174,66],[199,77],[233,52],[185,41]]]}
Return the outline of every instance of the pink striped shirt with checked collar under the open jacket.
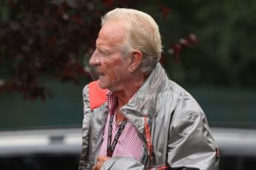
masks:
{"label": "pink striped shirt with checked collar under the open jacket", "polygon": [[[116,106],[118,105],[118,101],[114,93],[108,92],[107,102],[108,102],[110,113],[115,112]],[[109,127],[110,113],[108,114],[108,120],[107,120],[107,123],[105,124],[103,142],[102,142],[101,149],[99,150],[99,155],[105,155],[105,156],[107,155],[108,127]],[[113,142],[116,132],[119,129],[119,125],[116,125],[116,114],[115,114],[113,125],[112,125],[113,129],[112,129],[111,143]],[[125,129],[123,129],[122,134],[119,137],[118,143],[116,144],[112,157],[116,157],[116,156],[133,157],[136,160],[140,160],[142,145],[143,145],[142,140],[138,136],[136,129],[131,124],[131,122],[127,121],[125,125]]]}

